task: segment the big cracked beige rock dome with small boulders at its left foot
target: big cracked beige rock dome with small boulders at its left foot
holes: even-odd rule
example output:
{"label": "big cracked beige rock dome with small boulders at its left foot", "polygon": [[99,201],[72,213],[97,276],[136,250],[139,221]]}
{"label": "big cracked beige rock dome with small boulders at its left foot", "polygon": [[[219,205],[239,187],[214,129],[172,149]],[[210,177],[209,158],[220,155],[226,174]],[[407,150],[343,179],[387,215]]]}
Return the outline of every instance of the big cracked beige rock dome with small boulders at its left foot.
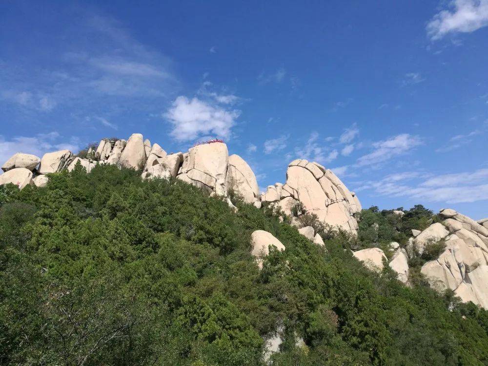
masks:
{"label": "big cracked beige rock dome with small boulders at its left foot", "polygon": [[362,207],[354,192],[330,170],[319,163],[297,159],[288,164],[286,183],[269,185],[261,202],[278,204],[286,214],[301,202],[307,212],[331,227],[356,233],[358,223],[354,214]]}

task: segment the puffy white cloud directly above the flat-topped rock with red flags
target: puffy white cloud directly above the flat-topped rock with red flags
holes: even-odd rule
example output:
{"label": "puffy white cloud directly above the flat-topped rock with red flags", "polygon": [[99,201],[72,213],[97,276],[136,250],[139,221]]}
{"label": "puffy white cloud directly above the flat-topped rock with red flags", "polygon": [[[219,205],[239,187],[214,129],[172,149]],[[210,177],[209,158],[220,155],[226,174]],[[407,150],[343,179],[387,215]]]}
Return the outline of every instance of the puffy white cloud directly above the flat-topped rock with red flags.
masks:
{"label": "puffy white cloud directly above the flat-topped rock with red flags", "polygon": [[230,138],[231,128],[240,114],[239,110],[226,109],[198,98],[180,96],[163,117],[173,125],[171,136],[178,141],[188,141],[202,135]]}

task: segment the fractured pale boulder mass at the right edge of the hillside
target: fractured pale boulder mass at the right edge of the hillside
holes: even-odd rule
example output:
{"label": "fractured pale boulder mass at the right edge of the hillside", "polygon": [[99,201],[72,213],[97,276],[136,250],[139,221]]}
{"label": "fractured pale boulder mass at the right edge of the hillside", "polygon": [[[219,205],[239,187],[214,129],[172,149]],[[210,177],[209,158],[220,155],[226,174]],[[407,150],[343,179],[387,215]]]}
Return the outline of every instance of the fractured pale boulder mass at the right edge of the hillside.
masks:
{"label": "fractured pale boulder mass at the right edge of the hillside", "polygon": [[451,289],[463,302],[488,309],[488,220],[475,222],[452,209],[439,215],[442,223],[430,225],[413,240],[419,252],[428,241],[446,244],[439,258],[424,264],[421,273],[433,288]]}

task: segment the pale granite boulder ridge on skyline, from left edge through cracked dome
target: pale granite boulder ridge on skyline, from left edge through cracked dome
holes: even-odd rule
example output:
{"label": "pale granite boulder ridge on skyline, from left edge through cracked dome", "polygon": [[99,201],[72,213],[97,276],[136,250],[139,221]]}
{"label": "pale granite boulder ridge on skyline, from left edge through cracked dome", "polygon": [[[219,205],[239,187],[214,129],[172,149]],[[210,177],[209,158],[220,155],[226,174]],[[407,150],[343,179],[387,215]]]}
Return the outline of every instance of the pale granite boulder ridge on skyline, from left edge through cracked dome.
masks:
{"label": "pale granite boulder ridge on skyline, from left edge through cracked dome", "polygon": [[84,159],[68,150],[46,153],[42,159],[16,154],[3,165],[7,173],[0,177],[0,184],[14,183],[20,188],[27,184],[42,186],[47,183],[45,174],[65,168],[71,171],[78,162],[87,171],[95,164],[142,168],[144,178],[177,178],[212,195],[228,197],[233,190],[247,203],[257,207],[278,205],[285,213],[291,213],[295,203],[302,203],[306,212],[316,214],[322,223],[357,232],[353,215],[361,211],[361,203],[329,169],[319,163],[294,160],[288,165],[286,183],[270,185],[260,194],[249,164],[239,155],[229,156],[227,145],[220,141],[193,146],[185,153],[167,154],[157,143],[151,144],[141,134],[132,134],[127,141],[103,139]]}

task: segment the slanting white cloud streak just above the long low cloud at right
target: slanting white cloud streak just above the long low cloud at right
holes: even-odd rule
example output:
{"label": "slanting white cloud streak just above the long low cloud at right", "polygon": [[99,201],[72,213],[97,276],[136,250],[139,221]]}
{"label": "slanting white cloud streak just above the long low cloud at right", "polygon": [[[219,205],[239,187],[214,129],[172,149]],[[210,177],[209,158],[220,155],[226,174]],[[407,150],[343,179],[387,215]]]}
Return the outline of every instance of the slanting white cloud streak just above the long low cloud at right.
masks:
{"label": "slanting white cloud streak just above the long low cloud at right", "polygon": [[407,133],[393,136],[385,141],[374,142],[372,145],[374,150],[360,157],[356,162],[356,166],[385,162],[409,152],[420,144],[422,144],[422,140],[418,136],[412,136]]}

